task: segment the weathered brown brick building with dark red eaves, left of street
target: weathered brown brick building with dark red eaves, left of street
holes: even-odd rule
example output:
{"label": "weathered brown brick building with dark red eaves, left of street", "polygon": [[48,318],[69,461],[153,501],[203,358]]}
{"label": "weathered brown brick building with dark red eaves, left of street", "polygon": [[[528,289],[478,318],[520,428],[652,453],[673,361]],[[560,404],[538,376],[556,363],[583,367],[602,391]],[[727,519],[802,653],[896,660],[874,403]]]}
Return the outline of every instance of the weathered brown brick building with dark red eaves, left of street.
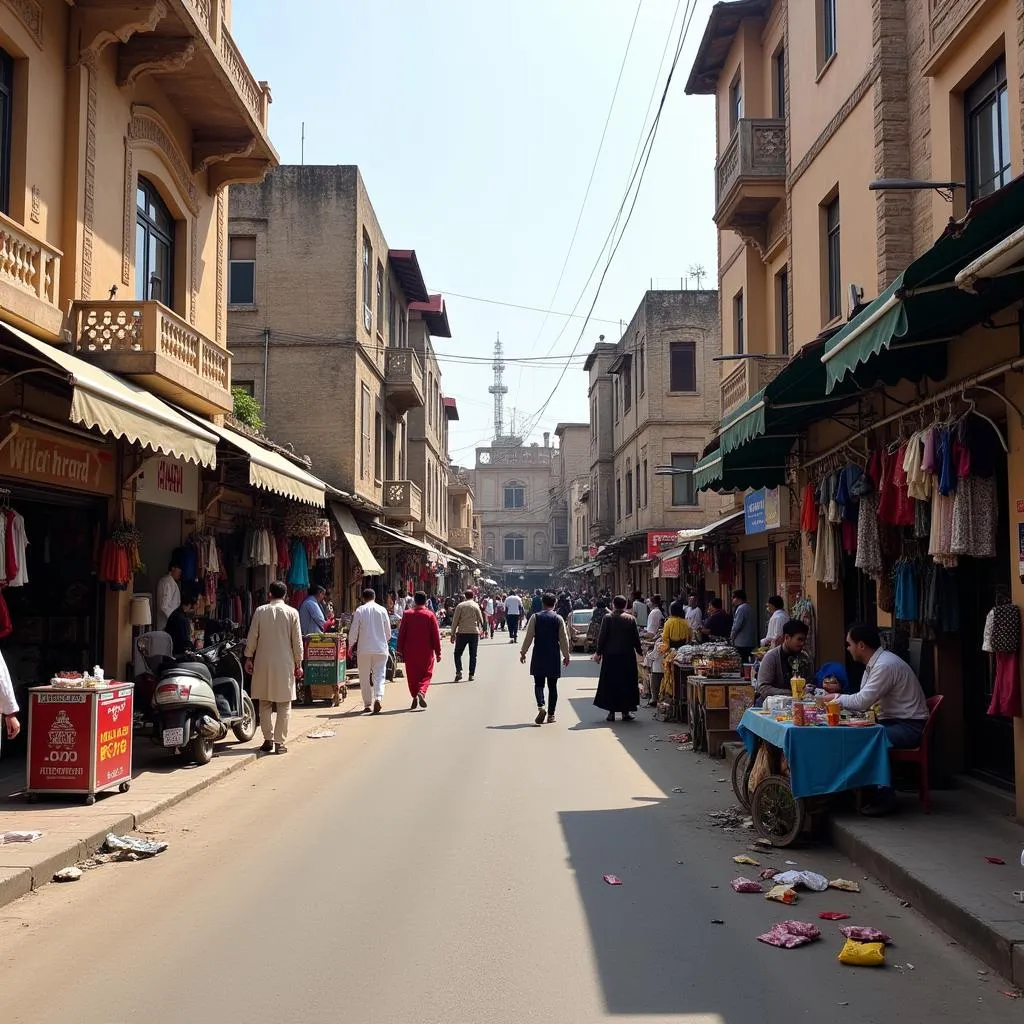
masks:
{"label": "weathered brown brick building with dark red eaves, left of street", "polygon": [[386,585],[433,590],[457,415],[431,342],[451,334],[443,299],[415,251],[388,246],[353,166],[281,167],[233,189],[229,246],[233,383],[369,517]]}

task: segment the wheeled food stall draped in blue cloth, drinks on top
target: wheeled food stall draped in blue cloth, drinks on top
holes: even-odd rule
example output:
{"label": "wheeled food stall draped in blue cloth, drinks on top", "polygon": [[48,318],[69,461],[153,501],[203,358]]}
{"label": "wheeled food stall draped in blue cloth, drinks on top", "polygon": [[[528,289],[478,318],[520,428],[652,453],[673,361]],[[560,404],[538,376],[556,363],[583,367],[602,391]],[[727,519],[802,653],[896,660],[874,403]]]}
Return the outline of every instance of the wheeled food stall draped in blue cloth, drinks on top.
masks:
{"label": "wheeled food stall draped in blue cloth, drinks on top", "polygon": [[870,713],[837,712],[838,706],[826,711],[769,697],[740,719],[746,756],[736,759],[733,785],[749,801],[754,827],[773,846],[795,843],[833,795],[891,784],[885,729]]}

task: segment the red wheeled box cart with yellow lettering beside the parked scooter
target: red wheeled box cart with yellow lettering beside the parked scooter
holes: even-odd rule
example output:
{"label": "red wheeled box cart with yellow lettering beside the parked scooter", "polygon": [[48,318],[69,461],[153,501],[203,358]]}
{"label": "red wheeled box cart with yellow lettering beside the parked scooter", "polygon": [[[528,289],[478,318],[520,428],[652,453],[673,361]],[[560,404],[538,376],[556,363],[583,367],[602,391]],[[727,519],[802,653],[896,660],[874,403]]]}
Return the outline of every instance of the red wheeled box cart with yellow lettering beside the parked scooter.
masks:
{"label": "red wheeled box cart with yellow lettering beside the parked scooter", "polygon": [[25,796],[96,794],[131,786],[132,683],[33,686]]}

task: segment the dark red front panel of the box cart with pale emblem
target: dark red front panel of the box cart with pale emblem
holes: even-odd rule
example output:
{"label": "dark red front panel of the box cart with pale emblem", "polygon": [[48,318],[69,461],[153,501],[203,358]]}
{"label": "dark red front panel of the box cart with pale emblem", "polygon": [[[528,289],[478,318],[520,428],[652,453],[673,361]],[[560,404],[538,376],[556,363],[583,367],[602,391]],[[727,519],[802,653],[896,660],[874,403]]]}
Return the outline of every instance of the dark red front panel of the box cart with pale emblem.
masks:
{"label": "dark red front panel of the box cart with pale emblem", "polygon": [[88,693],[32,694],[29,790],[88,792],[91,719]]}

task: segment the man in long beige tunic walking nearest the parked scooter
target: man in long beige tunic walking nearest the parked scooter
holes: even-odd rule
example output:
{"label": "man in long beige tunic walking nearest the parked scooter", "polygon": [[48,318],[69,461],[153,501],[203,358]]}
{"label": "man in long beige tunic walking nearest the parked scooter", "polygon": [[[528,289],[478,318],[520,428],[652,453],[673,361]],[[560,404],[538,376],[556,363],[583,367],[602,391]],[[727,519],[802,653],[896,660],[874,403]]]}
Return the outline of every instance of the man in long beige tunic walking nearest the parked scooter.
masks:
{"label": "man in long beige tunic walking nearest the parked scooter", "polygon": [[285,603],[288,588],[274,580],[270,600],[254,612],[246,640],[246,672],[252,696],[259,700],[264,754],[288,753],[288,726],[295,699],[295,680],[302,676],[302,630],[299,613]]}

